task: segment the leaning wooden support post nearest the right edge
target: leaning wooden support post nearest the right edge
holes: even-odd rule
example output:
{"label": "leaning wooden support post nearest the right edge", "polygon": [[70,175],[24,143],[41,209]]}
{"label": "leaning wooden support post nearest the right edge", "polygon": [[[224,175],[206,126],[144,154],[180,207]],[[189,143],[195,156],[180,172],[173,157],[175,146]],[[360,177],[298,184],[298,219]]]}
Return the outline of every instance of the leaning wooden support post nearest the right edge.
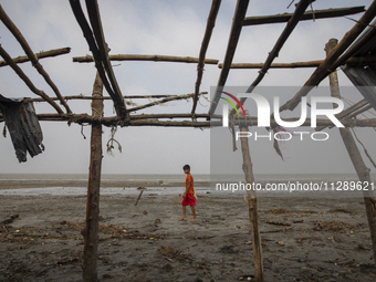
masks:
{"label": "leaning wooden support post nearest the right edge", "polygon": [[[336,46],[337,42],[338,41],[336,39],[331,39],[325,44],[326,55],[331,53],[331,51]],[[337,76],[336,71],[330,74],[330,85],[331,85],[332,96],[340,98],[338,76]],[[373,249],[374,249],[374,262],[376,263],[376,210],[375,210],[376,201],[375,201],[375,195],[370,190],[370,187],[369,187],[370,186],[369,169],[366,167],[366,165],[363,161],[362,155],[356,146],[352,132],[348,128],[340,128],[340,134],[345,144],[349,158],[352,159],[356,174],[359,177],[359,180],[362,182],[369,184],[368,190],[363,190],[363,197],[364,197],[364,203],[366,207],[366,213],[367,213],[368,226],[369,226],[369,231],[370,231],[370,239],[372,239]]]}

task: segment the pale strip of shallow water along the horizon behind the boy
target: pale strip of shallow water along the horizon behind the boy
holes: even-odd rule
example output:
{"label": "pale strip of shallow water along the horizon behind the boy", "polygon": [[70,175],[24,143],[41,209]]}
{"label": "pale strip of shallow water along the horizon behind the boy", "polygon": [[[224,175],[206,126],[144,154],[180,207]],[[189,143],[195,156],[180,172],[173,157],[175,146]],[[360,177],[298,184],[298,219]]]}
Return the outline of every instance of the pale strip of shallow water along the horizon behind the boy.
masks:
{"label": "pale strip of shallow water along the horizon behind the boy", "polygon": [[[106,187],[101,188],[101,195],[138,195],[138,187],[119,187],[118,184],[148,184],[145,195],[167,195],[179,196],[185,190],[185,175],[102,175],[102,181],[106,182]],[[241,190],[241,184],[246,184],[244,177],[239,176],[210,176],[194,175],[195,188],[198,196],[212,195],[216,197],[243,197],[247,191]],[[41,174],[0,174],[0,196],[84,196],[87,192],[87,175],[41,175]],[[364,185],[358,185],[358,178],[355,174],[294,174],[294,175],[254,175],[255,181],[261,187],[257,190],[258,197],[363,197]],[[9,184],[22,182],[25,188],[8,188]],[[74,181],[75,187],[70,187],[70,182]],[[111,187],[112,182],[116,182],[116,187]],[[30,184],[30,188],[28,188]],[[219,184],[226,187],[226,184],[238,184],[237,190],[218,189]],[[240,185],[239,185],[240,184]],[[345,187],[347,185],[347,188]],[[368,191],[376,190],[376,176],[372,175],[372,184],[368,185]],[[43,188],[33,188],[41,185]],[[267,185],[280,185],[288,187],[286,190],[264,190]],[[295,189],[291,190],[291,188]],[[296,185],[301,185],[301,190],[296,189]],[[310,190],[305,188],[314,188],[321,186],[321,190]],[[338,188],[340,186],[340,188]],[[354,188],[352,188],[352,187]],[[227,186],[229,187],[229,186]],[[342,189],[341,189],[342,187]],[[358,189],[357,189],[358,188]]]}

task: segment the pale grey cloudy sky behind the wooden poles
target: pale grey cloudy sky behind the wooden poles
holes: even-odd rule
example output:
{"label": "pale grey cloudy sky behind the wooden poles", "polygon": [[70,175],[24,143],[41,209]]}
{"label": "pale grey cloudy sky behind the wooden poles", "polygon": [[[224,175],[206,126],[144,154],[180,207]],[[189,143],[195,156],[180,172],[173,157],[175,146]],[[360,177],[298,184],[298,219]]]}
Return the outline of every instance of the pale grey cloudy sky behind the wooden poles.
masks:
{"label": "pale grey cloudy sky behind the wooden poles", "polygon": [[[291,0],[250,1],[247,15],[264,15],[293,12],[288,9]],[[365,6],[370,0],[315,1],[314,9]],[[159,54],[198,56],[205,33],[211,1],[121,1],[98,0],[102,23],[111,54]],[[12,19],[36,53],[70,46],[70,54],[43,59],[48,71],[61,93],[65,95],[91,95],[96,70],[93,63],[73,63],[73,56],[90,54],[82,31],[74,19],[69,1],[12,0],[1,1],[2,8]],[[84,1],[82,1],[84,6]],[[222,0],[207,58],[223,62],[236,0]],[[353,20],[362,14],[351,15]],[[301,62],[325,56],[324,45],[331,38],[341,40],[354,25],[345,18],[304,21],[299,23],[274,62]],[[264,62],[285,24],[244,27],[239,40],[234,63]],[[0,43],[12,56],[24,55],[21,46],[8,29],[0,23]],[[124,95],[188,94],[192,93],[197,77],[197,65],[186,63],[114,62],[114,72]],[[31,66],[20,65],[36,87],[50,96],[52,90]],[[313,70],[270,70],[262,81],[265,86],[299,86],[310,77]],[[206,65],[201,91],[209,92],[218,82],[220,70]],[[258,70],[232,70],[227,85],[252,83]],[[0,67],[0,93],[7,97],[35,97],[10,67]],[[341,85],[351,85],[340,73]],[[327,85],[327,80],[321,85]],[[107,93],[104,93],[107,95]],[[361,95],[348,97],[352,102]],[[145,101],[134,100],[137,104]],[[75,113],[91,113],[90,102],[69,102]],[[153,107],[140,113],[190,113],[191,101],[180,101]],[[46,103],[35,105],[38,113],[54,113]],[[197,113],[207,113],[209,102],[201,98]],[[114,115],[112,103],[105,103],[105,115]],[[368,117],[373,117],[368,114]],[[1,123],[1,129],[3,123]],[[0,173],[2,174],[85,174],[88,170],[90,126],[66,123],[41,122],[45,152],[19,164],[10,137],[0,137]],[[373,139],[375,130],[356,129],[369,153],[376,157]],[[250,143],[253,168],[262,173],[353,173],[353,168],[337,130],[331,129],[331,140],[320,145],[311,143],[284,143],[285,160],[275,154],[272,145]],[[104,128],[103,143],[109,138],[109,128]],[[194,128],[124,127],[115,138],[123,153],[114,156],[105,153],[104,174],[180,174],[185,164],[190,164],[196,174],[210,171],[210,130]],[[213,142],[213,140],[211,140]],[[231,148],[228,148],[231,150]],[[234,154],[240,154],[237,152]],[[368,167],[370,167],[367,161]]]}

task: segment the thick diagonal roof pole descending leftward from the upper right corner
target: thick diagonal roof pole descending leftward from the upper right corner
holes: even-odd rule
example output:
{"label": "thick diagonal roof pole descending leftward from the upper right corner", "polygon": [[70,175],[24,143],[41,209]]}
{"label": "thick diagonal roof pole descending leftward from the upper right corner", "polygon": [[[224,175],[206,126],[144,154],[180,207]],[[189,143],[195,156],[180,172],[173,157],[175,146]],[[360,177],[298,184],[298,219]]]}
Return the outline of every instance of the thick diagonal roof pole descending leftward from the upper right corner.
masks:
{"label": "thick diagonal roof pole descending leftward from the upper right corner", "polygon": [[356,40],[356,38],[364,31],[364,29],[369,24],[369,22],[376,15],[376,0],[372,2],[367,11],[357,21],[357,23],[343,36],[341,42],[335,46],[335,49],[325,58],[323,63],[314,71],[311,77],[305,82],[303,87],[289,100],[284,105],[280,107],[280,112],[285,109],[293,111],[303,96],[306,96],[312,86],[317,85],[328,73],[327,70],[335,63],[335,61],[343,54],[346,49]]}

